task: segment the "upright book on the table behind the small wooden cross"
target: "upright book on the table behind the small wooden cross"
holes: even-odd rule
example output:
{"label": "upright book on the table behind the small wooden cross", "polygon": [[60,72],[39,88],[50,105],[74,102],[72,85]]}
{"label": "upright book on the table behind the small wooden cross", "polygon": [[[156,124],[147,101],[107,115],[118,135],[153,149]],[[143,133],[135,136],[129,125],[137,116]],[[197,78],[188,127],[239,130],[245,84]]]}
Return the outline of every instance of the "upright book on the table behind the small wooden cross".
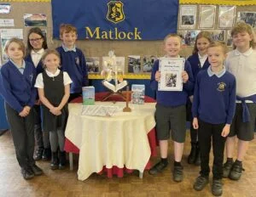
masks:
{"label": "upright book on the table behind the small wooden cross", "polygon": [[144,98],[145,98],[145,85],[132,84],[131,85],[131,103],[144,104]]}

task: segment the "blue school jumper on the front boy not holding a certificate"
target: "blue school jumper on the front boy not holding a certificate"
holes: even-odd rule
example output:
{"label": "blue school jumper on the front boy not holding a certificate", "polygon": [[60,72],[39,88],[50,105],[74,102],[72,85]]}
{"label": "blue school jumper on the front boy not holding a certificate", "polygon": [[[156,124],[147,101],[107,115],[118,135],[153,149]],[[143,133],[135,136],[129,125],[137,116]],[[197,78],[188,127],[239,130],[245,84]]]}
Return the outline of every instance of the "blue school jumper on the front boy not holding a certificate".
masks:
{"label": "blue school jumper on the front boy not holding a certificate", "polygon": [[225,69],[216,76],[211,67],[198,73],[193,117],[211,124],[231,124],[236,109],[236,78]]}

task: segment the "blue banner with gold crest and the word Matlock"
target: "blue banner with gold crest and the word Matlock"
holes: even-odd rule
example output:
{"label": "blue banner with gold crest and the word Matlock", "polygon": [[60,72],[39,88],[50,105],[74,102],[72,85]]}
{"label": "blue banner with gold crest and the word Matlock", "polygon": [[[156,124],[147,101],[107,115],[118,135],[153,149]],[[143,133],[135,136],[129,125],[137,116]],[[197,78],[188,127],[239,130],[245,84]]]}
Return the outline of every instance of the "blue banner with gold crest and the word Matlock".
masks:
{"label": "blue banner with gold crest and the word Matlock", "polygon": [[62,23],[79,39],[162,40],[177,31],[178,0],[51,0],[53,36]]}

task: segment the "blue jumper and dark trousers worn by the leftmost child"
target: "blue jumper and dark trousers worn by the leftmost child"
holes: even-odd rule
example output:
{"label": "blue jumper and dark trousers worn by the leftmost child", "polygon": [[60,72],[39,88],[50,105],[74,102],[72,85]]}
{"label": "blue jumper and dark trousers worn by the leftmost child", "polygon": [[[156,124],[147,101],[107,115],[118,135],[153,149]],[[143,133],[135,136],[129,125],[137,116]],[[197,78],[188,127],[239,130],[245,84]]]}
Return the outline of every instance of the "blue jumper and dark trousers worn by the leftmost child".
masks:
{"label": "blue jumper and dark trousers worn by the leftmost child", "polygon": [[[23,61],[19,67],[9,60],[0,70],[0,93],[5,101],[6,115],[12,132],[16,158],[21,168],[33,166],[34,134],[32,106],[36,99],[36,70],[34,66]],[[31,107],[26,117],[19,114],[25,106]]]}

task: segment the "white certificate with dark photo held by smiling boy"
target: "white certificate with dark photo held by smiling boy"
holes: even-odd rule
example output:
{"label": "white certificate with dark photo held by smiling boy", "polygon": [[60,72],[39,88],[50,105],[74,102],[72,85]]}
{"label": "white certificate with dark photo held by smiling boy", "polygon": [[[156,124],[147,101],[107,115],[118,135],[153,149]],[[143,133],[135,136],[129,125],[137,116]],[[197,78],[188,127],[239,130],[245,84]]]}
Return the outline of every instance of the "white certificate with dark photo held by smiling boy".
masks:
{"label": "white certificate with dark photo held by smiling boy", "polygon": [[158,83],[159,91],[182,91],[185,59],[160,58],[159,71],[161,74]]}

